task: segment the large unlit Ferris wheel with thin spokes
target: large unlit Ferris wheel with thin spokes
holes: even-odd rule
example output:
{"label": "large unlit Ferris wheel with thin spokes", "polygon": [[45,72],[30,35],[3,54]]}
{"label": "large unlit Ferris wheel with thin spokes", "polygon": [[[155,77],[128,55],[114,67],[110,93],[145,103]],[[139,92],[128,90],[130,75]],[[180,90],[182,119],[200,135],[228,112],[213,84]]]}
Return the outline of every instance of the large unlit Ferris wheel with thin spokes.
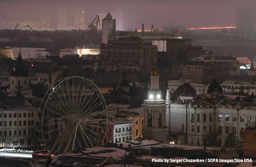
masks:
{"label": "large unlit Ferris wheel with thin spokes", "polygon": [[49,154],[103,144],[107,107],[99,88],[89,79],[60,79],[44,95],[40,111],[42,138]]}

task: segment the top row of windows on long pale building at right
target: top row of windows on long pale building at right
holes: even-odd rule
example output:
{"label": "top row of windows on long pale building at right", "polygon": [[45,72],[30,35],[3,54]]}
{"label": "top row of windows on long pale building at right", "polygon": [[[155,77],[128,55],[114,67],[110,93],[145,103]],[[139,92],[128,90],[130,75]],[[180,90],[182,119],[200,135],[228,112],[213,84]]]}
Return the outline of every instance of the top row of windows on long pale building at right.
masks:
{"label": "top row of windows on long pale building at right", "polygon": [[[225,114],[225,121],[229,121],[229,114]],[[236,115],[232,115],[232,121],[235,122],[236,121]],[[248,120],[247,122],[249,122],[249,116],[247,116]],[[222,120],[222,114],[219,114],[218,116],[218,121]],[[206,114],[204,114],[204,122],[206,122]],[[209,114],[209,121],[212,122],[212,114]],[[244,116],[240,115],[240,122],[244,121]],[[250,121],[251,121],[251,116],[250,116]],[[191,114],[191,122],[194,122],[194,114]],[[200,122],[200,114],[197,114],[197,122]]]}

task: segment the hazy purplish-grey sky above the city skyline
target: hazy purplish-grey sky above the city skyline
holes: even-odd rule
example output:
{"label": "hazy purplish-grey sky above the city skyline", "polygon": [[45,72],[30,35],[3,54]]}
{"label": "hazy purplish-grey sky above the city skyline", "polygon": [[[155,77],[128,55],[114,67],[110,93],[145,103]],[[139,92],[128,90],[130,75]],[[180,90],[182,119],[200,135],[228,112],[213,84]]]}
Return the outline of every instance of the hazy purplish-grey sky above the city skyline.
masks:
{"label": "hazy purplish-grey sky above the city skyline", "polygon": [[84,10],[86,25],[97,13],[119,11],[125,29],[141,29],[142,23],[148,29],[152,24],[154,28],[234,26],[241,4],[255,7],[256,0],[0,0],[0,28],[15,28],[8,22],[36,22],[42,15],[54,18],[64,10]]}

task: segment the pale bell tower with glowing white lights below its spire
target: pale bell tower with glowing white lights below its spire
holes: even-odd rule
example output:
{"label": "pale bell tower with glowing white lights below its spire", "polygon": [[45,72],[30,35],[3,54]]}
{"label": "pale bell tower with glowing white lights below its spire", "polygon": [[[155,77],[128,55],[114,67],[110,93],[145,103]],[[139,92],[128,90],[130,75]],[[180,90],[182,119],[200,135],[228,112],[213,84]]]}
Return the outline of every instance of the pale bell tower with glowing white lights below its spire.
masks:
{"label": "pale bell tower with glowing white lights below its spire", "polygon": [[142,104],[144,109],[145,124],[142,129],[143,137],[149,137],[161,142],[167,141],[168,128],[166,127],[166,106],[165,100],[161,99],[159,89],[159,75],[156,65],[151,72],[150,88],[148,99]]}

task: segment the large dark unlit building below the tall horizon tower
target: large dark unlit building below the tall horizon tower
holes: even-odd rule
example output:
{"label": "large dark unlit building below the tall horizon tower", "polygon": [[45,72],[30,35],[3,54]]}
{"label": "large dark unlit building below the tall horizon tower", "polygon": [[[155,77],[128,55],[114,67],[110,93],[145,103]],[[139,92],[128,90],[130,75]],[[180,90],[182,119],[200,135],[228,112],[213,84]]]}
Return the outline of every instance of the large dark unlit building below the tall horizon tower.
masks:
{"label": "large dark unlit building below the tall horizon tower", "polygon": [[102,44],[101,54],[105,69],[151,71],[154,60],[157,61],[157,46],[138,37],[121,37]]}

